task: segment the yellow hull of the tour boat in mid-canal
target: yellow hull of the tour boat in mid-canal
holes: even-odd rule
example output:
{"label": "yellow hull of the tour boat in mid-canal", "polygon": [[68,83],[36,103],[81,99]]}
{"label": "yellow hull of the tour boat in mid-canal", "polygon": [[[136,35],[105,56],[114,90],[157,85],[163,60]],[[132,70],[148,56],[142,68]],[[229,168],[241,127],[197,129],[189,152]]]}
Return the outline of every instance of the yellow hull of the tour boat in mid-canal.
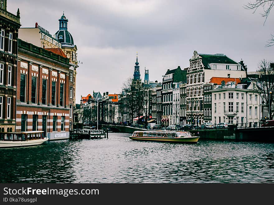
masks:
{"label": "yellow hull of the tour boat in mid-canal", "polygon": [[200,137],[129,137],[132,140],[157,141],[157,142],[180,142],[197,143]]}

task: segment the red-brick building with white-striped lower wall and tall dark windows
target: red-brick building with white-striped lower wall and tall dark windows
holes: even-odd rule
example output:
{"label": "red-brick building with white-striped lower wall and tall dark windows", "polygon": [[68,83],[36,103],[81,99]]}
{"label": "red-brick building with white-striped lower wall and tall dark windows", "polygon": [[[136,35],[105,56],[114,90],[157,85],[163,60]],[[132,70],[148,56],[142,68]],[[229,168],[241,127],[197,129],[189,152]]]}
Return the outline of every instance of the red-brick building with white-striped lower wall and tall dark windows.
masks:
{"label": "red-brick building with white-striped lower wall and tall dark windows", "polygon": [[16,131],[69,138],[69,58],[18,39]]}

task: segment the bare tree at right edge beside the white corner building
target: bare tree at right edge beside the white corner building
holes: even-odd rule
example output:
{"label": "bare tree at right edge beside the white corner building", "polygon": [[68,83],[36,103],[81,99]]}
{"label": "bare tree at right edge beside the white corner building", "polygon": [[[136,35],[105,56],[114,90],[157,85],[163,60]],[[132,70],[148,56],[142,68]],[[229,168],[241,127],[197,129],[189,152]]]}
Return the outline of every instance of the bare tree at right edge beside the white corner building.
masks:
{"label": "bare tree at right edge beside the white corner building", "polygon": [[269,119],[272,119],[272,102],[274,91],[274,63],[263,59],[258,66],[259,78],[255,80],[256,84],[253,87],[262,97],[269,112]]}

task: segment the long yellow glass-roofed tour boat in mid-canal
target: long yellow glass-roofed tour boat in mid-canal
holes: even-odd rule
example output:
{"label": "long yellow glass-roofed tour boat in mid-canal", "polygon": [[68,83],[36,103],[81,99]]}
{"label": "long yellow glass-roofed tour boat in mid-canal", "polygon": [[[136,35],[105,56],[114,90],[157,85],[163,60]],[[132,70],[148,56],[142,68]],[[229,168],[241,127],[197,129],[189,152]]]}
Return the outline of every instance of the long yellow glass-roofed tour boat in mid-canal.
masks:
{"label": "long yellow glass-roofed tour boat in mid-canal", "polygon": [[132,140],[197,143],[200,137],[184,131],[135,131],[130,137]]}

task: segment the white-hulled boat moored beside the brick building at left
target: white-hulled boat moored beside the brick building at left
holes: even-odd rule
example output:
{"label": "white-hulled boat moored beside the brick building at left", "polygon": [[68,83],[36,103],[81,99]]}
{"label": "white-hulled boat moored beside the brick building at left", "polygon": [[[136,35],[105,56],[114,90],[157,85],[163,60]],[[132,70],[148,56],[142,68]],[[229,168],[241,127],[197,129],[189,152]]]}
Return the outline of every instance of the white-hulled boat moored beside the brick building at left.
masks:
{"label": "white-hulled boat moored beside the brick building at left", "polygon": [[0,132],[0,148],[40,145],[49,139],[42,137],[43,133],[43,131]]}

